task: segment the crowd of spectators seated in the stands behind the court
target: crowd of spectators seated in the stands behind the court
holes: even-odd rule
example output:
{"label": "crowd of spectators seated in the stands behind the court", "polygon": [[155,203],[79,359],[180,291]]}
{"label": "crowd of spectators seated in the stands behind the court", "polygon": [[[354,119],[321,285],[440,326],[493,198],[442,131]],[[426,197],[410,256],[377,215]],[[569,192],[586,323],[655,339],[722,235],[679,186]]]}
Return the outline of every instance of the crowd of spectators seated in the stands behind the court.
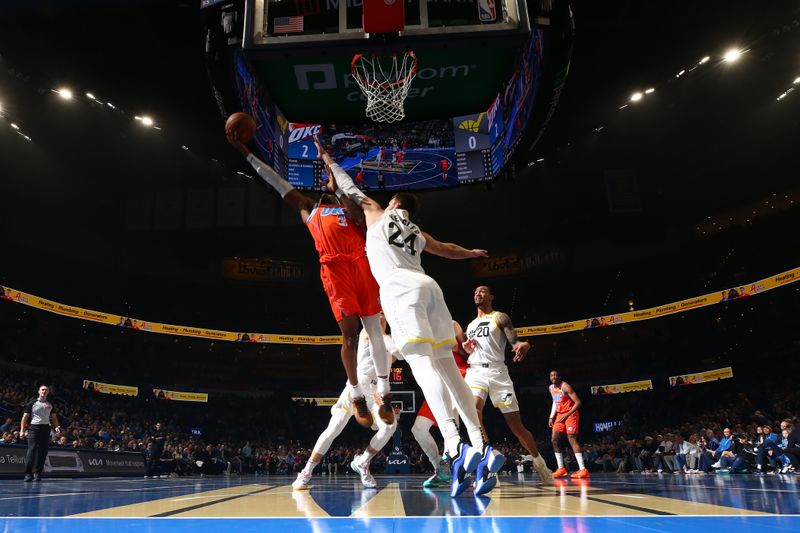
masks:
{"label": "crowd of spectators seated in the stands behind the court", "polygon": [[[22,444],[21,406],[35,390],[36,377],[33,373],[4,370],[0,378],[0,445]],[[148,475],[294,475],[304,466],[316,433],[325,426],[328,414],[326,408],[310,402],[271,397],[265,401],[280,405],[277,411],[285,409],[287,416],[268,419],[258,412],[255,420],[263,420],[266,426],[259,430],[256,424],[244,427],[224,422],[225,413],[252,404],[245,398],[196,406],[147,399],[145,405],[141,399],[103,395],[61,383],[56,383],[53,390],[63,427],[61,433],[52,435],[53,446],[143,453],[148,457]],[[709,408],[681,424],[667,427],[637,420],[635,414],[626,415],[613,433],[584,432],[587,436],[604,435],[585,439],[586,464],[595,472],[643,474],[800,471],[797,452],[800,448],[795,448],[800,437],[800,418],[795,416],[800,412],[800,394],[780,389],[766,398],[770,400],[769,410],[756,409],[742,393],[720,395],[717,400],[725,407]],[[410,421],[412,417],[407,418]],[[297,428],[305,427],[306,431],[287,423],[293,419],[302,420],[304,423]],[[163,430],[155,425],[159,421],[163,422]],[[193,424],[219,424],[219,427],[213,435],[197,430],[193,434]],[[637,431],[648,426],[660,429],[649,433]],[[317,467],[318,474],[352,475],[350,461],[366,442],[366,434],[359,429],[345,432],[337,446],[324,456]],[[538,433],[542,439],[540,449],[550,459],[548,435]],[[410,432],[406,435],[410,437]],[[413,440],[405,439],[402,446],[412,473],[431,471]],[[507,457],[505,472],[530,471],[532,457],[516,442],[509,444],[508,439],[503,439],[497,448]],[[569,466],[570,457],[566,460]],[[386,455],[381,453],[372,468],[380,473],[385,465]]]}

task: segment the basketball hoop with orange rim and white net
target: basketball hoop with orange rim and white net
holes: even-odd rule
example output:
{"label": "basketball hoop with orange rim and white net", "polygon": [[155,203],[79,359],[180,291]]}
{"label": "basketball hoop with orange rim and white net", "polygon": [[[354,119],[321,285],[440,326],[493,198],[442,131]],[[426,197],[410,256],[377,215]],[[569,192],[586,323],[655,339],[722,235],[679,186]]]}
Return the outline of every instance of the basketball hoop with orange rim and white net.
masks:
{"label": "basketball hoop with orange rim and white net", "polygon": [[406,116],[403,103],[417,75],[414,52],[392,54],[391,65],[381,65],[378,56],[353,56],[353,77],[367,97],[367,117],[375,122],[398,122]]}

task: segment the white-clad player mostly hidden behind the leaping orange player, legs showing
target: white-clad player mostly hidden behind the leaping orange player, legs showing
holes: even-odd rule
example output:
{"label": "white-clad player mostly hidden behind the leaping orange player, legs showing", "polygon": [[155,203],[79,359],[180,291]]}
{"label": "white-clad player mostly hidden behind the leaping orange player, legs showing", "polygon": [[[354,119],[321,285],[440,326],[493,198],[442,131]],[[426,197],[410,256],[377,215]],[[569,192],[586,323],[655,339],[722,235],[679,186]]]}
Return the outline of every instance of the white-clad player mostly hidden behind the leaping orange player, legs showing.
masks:
{"label": "white-clad player mostly hidden behind the leaping orange player, legs showing", "polygon": [[[381,326],[383,327],[383,331],[386,331],[386,320],[383,317],[381,317]],[[399,355],[394,349],[391,337],[384,333],[383,341],[387,350],[387,360],[391,360],[392,357]],[[361,388],[366,393],[367,405],[374,415],[372,429],[375,431],[375,435],[373,435],[364,453],[356,455],[353,458],[353,461],[350,463],[350,468],[361,476],[361,483],[366,488],[372,489],[377,486],[377,483],[369,471],[369,464],[372,458],[386,446],[386,443],[388,443],[389,439],[394,435],[397,429],[399,414],[394,417],[394,422],[392,424],[387,424],[378,416],[380,404],[375,400],[376,397],[380,398],[377,394],[378,376],[375,372],[375,363],[373,363],[369,337],[367,336],[366,330],[361,330],[361,335],[359,335],[357,360],[358,380]],[[292,488],[295,490],[305,490],[309,487],[314,468],[322,461],[323,456],[328,453],[334,439],[344,431],[345,426],[347,426],[353,414],[353,402],[350,397],[350,388],[345,387],[336,405],[331,407],[331,421],[328,423],[328,427],[319,436],[316,444],[314,444],[314,450],[308,458],[306,466],[297,474],[297,479],[292,483]]]}

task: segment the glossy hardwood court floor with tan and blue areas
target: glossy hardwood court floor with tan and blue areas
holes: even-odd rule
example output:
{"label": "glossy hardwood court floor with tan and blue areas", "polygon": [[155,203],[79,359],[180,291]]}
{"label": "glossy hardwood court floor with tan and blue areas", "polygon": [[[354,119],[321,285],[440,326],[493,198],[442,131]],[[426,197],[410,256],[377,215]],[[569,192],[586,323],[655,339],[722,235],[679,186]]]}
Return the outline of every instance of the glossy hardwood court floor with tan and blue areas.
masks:
{"label": "glossy hardwood court floor with tan and blue areas", "polygon": [[0,481],[0,532],[203,533],[800,531],[800,476],[595,475],[544,487],[503,476],[487,496],[423,490],[420,476],[51,479]]}

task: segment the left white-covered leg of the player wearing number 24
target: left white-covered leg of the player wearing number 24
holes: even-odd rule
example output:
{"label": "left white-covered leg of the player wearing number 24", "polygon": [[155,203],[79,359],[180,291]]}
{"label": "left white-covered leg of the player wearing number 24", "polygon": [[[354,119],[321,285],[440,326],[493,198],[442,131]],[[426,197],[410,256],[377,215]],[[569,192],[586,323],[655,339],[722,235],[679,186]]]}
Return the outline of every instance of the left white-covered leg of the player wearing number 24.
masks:
{"label": "left white-covered leg of the player wearing number 24", "polygon": [[[452,357],[450,359],[452,360]],[[406,361],[408,361],[414,379],[417,380],[417,385],[422,389],[422,394],[425,395],[431,412],[439,424],[439,430],[444,437],[445,450],[450,457],[455,457],[458,454],[461,437],[458,435],[458,426],[453,418],[453,402],[447,386],[429,356],[406,357]],[[453,364],[455,365],[455,361]]]}

